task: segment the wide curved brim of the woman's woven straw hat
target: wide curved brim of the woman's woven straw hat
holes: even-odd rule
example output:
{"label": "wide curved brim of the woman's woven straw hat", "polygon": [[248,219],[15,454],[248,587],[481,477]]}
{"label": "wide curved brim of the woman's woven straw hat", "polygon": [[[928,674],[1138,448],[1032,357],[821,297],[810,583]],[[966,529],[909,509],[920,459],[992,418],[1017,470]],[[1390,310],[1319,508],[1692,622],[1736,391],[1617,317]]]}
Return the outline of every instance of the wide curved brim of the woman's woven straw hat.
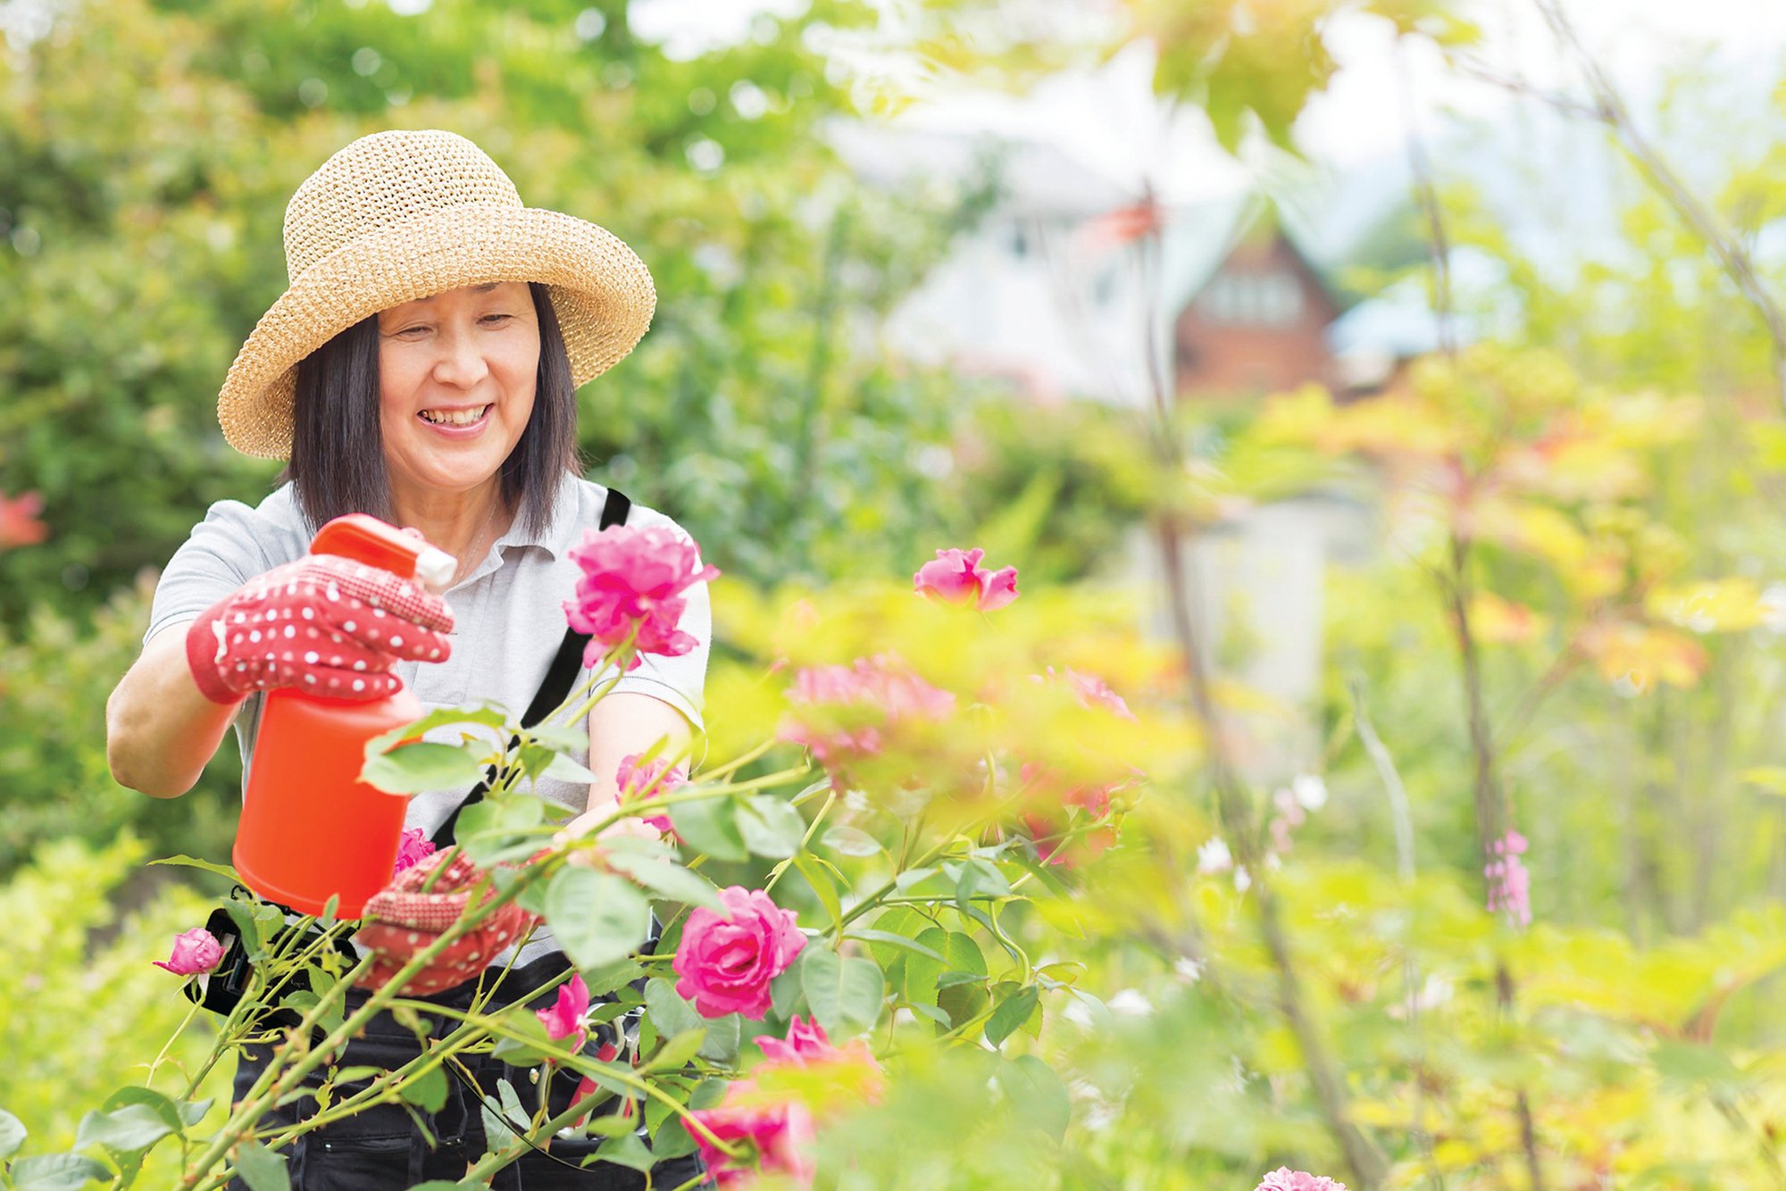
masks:
{"label": "wide curved brim of the woman's woven straw hat", "polygon": [[268,307],[218,393],[223,437],[245,455],[286,459],[298,361],[368,314],[491,280],[548,286],[579,386],[625,359],[657,307],[645,262],[588,220],[509,205],[402,220],[304,270]]}

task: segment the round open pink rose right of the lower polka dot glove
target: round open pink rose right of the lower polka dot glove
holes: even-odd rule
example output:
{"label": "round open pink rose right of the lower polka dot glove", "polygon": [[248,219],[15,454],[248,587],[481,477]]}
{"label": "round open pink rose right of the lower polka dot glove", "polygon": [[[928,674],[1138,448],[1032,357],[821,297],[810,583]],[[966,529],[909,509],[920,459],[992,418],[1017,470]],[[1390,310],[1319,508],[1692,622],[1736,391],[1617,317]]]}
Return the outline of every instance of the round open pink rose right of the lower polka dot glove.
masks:
{"label": "round open pink rose right of the lower polka dot glove", "polygon": [[770,980],[793,962],[805,936],[795,912],[784,911],[761,889],[720,889],[722,916],[705,905],[682,927],[682,943],[670,966],[680,977],[675,991],[695,1002],[704,1018],[741,1012],[761,1021],[770,1011]]}

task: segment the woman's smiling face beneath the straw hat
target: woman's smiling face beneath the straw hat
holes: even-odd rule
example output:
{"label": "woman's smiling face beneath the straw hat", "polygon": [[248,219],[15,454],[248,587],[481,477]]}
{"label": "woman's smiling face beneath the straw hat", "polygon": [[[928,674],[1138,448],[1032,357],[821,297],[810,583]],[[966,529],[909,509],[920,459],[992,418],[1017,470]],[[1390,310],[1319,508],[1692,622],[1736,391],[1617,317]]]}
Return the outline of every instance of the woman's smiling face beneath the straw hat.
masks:
{"label": "woman's smiling face beneath the straw hat", "polygon": [[448,289],[379,312],[379,423],[391,493],[486,484],[534,411],[539,316],[527,282]]}

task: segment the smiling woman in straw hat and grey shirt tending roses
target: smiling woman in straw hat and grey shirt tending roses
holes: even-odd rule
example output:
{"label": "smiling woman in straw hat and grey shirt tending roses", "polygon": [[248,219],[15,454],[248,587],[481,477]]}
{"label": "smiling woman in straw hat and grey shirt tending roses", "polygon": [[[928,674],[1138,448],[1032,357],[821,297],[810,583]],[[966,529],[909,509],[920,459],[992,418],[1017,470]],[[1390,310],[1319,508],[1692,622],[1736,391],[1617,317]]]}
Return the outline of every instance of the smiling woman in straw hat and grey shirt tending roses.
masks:
{"label": "smiling woman in straw hat and grey shirt tending roses", "polygon": [[[655,304],[650,273],[620,239],[523,207],[502,170],[450,132],[382,132],[332,155],[286,209],[286,262],[291,286],[218,398],[225,439],[289,457],[286,482],[255,509],[218,502],[193,529],[155,589],[143,654],[107,704],[113,773],[157,798],[191,789],[232,725],[250,766],[263,693],[282,686],[373,698],[395,677],[427,707],[527,707],[564,634],[577,579],[566,552],[607,504],[605,489],[580,479],[573,393],[632,350]],[[350,582],[309,559],[316,527],[354,511],[454,555],[445,598],[395,579]],[[627,523],[673,527],[638,505]],[[279,589],[266,580],[275,568]],[[288,623],[325,627],[318,648],[263,652],[248,609],[264,609],[270,589]],[[539,782],[543,796],[580,812],[570,830],[613,807],[623,755],[657,741],[664,755],[686,752],[700,729],[705,586],[688,596],[680,629],[697,648],[645,657],[588,718],[597,784]],[[418,795],[407,827],[432,836],[464,795]],[[511,975],[563,966],[536,936]],[[380,1021],[346,1062],[393,1066],[414,1045]],[[243,1057],[238,1095],[259,1062]],[[402,1109],[321,1127],[291,1150],[293,1186],[402,1187],[457,1177],[484,1152],[468,1089],[455,1087],[429,1129],[436,1148]],[[588,1146],[566,1145],[527,1155],[497,1186],[645,1186],[609,1164],[577,1170]],[[664,1162],[654,1186],[697,1173],[693,1159]]]}

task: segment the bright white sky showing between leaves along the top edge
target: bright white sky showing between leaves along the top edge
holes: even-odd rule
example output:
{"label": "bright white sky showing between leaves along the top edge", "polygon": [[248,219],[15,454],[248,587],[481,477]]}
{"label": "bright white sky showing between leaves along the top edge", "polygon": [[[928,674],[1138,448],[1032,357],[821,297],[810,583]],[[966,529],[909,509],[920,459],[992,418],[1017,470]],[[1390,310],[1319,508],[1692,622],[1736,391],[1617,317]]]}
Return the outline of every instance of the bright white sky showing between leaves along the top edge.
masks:
{"label": "bright white sky showing between leaves along the top edge", "polygon": [[[668,52],[693,55],[748,36],[757,12],[802,7],[804,0],[634,0],[632,25]],[[1475,0],[1472,7],[1488,37],[1482,59],[1547,87],[1573,86],[1532,0]],[[1565,0],[1565,7],[1632,96],[1661,87],[1666,70],[1697,48],[1715,55],[1720,73],[1759,73],[1768,80],[1786,75],[1786,0]],[[1450,75],[1436,52],[1404,48],[1406,61],[1397,62],[1393,34],[1375,18],[1336,21],[1329,46],[1341,70],[1331,89],[1309,104],[1298,139],[1311,157],[1336,168],[1400,154],[1409,130],[1404,87],[1429,136],[1440,111],[1493,116],[1515,102],[1497,87]],[[1213,150],[1200,121],[1163,125],[1148,95],[1150,71],[1150,52],[1134,46],[1097,77],[1050,80],[1022,100],[938,96],[902,120],[932,130],[1048,139],[1118,182],[1138,180],[1143,168],[1159,177],[1164,162],[1166,196],[1181,202],[1245,186],[1245,173]]]}

